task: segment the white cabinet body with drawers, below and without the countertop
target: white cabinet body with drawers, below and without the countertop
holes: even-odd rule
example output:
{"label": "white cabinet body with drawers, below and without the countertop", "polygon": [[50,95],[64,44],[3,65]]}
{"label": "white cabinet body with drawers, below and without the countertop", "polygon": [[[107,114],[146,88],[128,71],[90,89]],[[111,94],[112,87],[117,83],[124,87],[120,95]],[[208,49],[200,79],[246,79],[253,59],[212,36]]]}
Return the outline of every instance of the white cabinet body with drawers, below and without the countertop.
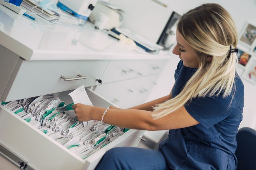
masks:
{"label": "white cabinet body with drawers, below and without the countertop", "polygon": [[[6,72],[7,76],[0,86],[1,101],[4,102],[56,92],[60,92],[60,96],[64,96],[60,99],[66,102],[70,100],[67,95],[68,90],[81,85],[93,86],[96,78],[101,78],[103,84],[98,85],[95,91],[86,89],[94,106],[133,106],[146,99],[158,76],[158,72],[150,72],[150,69],[146,69],[146,67],[150,68],[145,66],[147,60],[27,61],[15,54],[10,61],[3,55],[0,59],[1,63],[9,63],[2,64],[0,71],[5,72],[7,68],[10,70]],[[112,62],[125,63],[127,68],[134,70],[133,66],[136,65],[138,68],[136,70],[143,74],[136,73],[135,76],[130,76],[132,74],[124,73],[124,77],[120,78],[115,74],[115,69],[112,70]],[[161,62],[156,60],[155,63]],[[115,76],[112,77],[109,71],[113,71]],[[73,81],[64,81],[61,78],[61,76],[73,78],[78,74],[87,78]],[[82,159],[3,106],[0,106],[0,129],[0,144],[21,157],[29,168],[39,170],[94,169],[107,150],[117,146],[137,146],[144,133],[144,130],[130,129],[88,158]]]}

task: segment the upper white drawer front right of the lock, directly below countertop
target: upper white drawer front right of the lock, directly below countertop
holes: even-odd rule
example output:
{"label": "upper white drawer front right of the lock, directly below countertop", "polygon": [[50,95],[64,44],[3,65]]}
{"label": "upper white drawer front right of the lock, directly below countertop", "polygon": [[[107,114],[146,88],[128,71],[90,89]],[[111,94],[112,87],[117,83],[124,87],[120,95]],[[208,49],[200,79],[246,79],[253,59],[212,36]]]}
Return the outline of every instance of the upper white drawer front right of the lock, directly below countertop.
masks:
{"label": "upper white drawer front right of the lock, directly below countertop", "polygon": [[159,74],[167,60],[111,60],[102,76],[103,84]]}

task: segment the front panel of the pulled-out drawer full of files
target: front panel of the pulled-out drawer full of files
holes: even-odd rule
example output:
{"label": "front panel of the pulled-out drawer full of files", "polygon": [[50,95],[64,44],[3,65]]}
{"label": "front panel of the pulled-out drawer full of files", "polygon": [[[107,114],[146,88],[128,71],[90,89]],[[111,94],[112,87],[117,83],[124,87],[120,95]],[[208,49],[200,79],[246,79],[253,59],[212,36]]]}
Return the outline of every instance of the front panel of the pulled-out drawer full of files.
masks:
{"label": "front panel of the pulled-out drawer full of files", "polygon": [[0,143],[33,169],[81,169],[84,164],[82,158],[3,106],[0,106],[0,128]]}

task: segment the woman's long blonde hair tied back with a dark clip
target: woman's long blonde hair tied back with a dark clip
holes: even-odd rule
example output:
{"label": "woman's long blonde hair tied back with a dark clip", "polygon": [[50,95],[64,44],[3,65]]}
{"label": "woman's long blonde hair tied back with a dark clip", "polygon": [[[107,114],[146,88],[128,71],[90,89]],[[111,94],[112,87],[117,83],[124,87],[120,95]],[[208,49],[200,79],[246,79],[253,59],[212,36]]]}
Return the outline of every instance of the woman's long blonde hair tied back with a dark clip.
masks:
{"label": "woman's long blonde hair tied back with a dark clip", "polygon": [[[237,46],[237,30],[230,14],[220,5],[209,3],[185,13],[177,30],[198,53],[199,67],[174,98],[156,105],[155,119],[164,117],[188,104],[195,97],[231,95],[238,62],[232,48]],[[211,61],[207,57],[212,56]]]}

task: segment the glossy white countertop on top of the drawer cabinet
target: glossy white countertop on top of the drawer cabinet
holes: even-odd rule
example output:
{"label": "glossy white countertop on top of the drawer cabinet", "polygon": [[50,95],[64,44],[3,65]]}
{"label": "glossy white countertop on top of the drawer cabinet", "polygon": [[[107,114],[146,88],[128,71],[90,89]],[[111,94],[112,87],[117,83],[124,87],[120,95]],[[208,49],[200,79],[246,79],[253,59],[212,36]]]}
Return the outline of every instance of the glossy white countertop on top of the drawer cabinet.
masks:
{"label": "glossy white countertop on top of the drawer cabinet", "polygon": [[25,60],[168,59],[111,38],[87,21],[81,27],[33,21],[0,5],[0,45]]}

